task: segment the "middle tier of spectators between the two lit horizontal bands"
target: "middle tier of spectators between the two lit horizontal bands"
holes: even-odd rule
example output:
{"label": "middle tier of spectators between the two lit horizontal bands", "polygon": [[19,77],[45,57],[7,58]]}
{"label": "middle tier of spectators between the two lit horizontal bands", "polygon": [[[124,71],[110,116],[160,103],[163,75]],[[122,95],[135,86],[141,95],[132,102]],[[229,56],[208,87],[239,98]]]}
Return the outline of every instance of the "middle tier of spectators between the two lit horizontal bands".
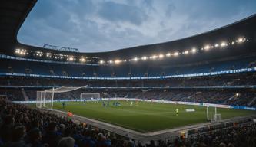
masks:
{"label": "middle tier of spectators between the two lit horizontal bands", "polygon": [[255,73],[211,77],[183,77],[160,80],[75,80],[38,77],[2,78],[1,86],[85,86],[88,87],[189,87],[256,85]]}

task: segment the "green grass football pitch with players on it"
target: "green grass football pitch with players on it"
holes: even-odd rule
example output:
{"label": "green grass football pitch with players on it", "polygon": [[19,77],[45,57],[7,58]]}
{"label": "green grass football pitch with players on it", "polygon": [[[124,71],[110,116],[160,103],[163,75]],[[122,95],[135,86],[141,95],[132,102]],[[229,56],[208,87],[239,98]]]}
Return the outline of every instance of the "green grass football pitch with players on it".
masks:
{"label": "green grass football pitch with players on it", "polygon": [[[78,116],[85,116],[138,132],[153,132],[208,122],[205,106],[149,102],[133,103],[133,106],[130,106],[131,101],[119,101],[121,106],[113,106],[112,103],[113,101],[110,101],[109,106],[104,107],[102,102],[66,102],[63,109],[62,103],[56,102],[53,109],[71,111]],[[178,116],[175,113],[177,108],[179,109]],[[185,112],[185,109],[195,109],[195,112]],[[221,113],[222,119],[255,114],[254,111],[241,109],[218,108],[217,110],[218,113]],[[211,107],[209,112],[214,114],[214,108]]]}

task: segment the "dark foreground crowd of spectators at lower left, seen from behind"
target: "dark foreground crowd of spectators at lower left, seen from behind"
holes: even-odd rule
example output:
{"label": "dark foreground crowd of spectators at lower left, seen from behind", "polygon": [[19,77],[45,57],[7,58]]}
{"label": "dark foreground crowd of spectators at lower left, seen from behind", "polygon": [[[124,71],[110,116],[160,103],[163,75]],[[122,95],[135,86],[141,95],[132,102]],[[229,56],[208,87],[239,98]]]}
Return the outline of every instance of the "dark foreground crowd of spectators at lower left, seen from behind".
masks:
{"label": "dark foreground crowd of spectators at lower left, seen from behind", "polygon": [[71,119],[0,100],[0,146],[123,147],[131,141]]}

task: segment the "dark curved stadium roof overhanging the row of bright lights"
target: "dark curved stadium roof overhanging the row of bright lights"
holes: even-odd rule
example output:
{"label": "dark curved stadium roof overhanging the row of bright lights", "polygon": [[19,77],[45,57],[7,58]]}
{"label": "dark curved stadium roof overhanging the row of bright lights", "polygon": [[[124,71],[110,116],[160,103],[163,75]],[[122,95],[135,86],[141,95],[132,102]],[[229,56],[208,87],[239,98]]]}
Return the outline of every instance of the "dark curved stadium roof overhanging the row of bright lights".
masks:
{"label": "dark curved stadium roof overhanging the row of bright lights", "polygon": [[[21,44],[18,42],[18,30],[36,2],[37,0],[3,0],[0,2],[0,43],[2,44],[0,51],[1,54],[13,55],[15,48],[18,47],[35,51],[51,51],[62,53],[62,51],[52,51],[42,47],[33,47],[31,45]],[[222,55],[226,56],[244,54],[255,51],[254,47],[252,47],[255,46],[256,43],[256,29],[254,26],[256,26],[256,15],[252,15],[251,17],[244,18],[241,21],[229,24],[213,31],[208,31],[203,34],[198,34],[189,38],[183,38],[177,41],[168,41],[160,44],[148,44],[101,53],[65,52],[65,54],[85,54],[86,56],[108,57],[109,59],[114,57],[125,58],[143,56],[145,54],[159,54],[161,52],[166,53],[168,51],[185,51],[185,49],[191,49],[191,47],[202,47],[205,44],[214,44],[215,42],[231,41],[237,39],[238,37],[246,37],[250,40],[250,44],[253,45],[244,47],[243,50],[236,50],[234,48],[232,51],[223,51],[221,53]],[[211,54],[211,56],[217,57],[220,56],[220,54]]]}

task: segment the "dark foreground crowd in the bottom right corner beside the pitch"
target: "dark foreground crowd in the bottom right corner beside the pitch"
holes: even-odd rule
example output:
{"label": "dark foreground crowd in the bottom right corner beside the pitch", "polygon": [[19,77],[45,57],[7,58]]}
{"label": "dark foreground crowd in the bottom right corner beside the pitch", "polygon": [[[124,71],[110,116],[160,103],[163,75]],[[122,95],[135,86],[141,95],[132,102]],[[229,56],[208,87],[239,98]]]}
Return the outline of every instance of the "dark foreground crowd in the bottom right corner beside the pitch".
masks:
{"label": "dark foreground crowd in the bottom right corner beside the pitch", "polygon": [[[253,147],[256,146],[256,125],[248,123],[207,133],[198,132],[187,139],[177,137],[167,144],[182,147]],[[161,146],[167,147],[168,145]]]}

